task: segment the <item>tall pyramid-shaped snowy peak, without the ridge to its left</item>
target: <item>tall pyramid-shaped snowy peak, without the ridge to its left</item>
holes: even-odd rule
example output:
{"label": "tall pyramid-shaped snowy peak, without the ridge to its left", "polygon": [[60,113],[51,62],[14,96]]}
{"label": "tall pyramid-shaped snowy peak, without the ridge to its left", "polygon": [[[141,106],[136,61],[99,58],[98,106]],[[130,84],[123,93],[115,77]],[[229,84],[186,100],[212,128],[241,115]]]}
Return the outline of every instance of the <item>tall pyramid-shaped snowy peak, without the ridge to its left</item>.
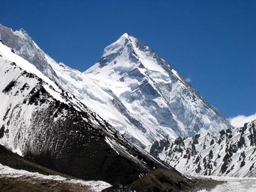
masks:
{"label": "tall pyramid-shaped snowy peak, without the ridge to its left", "polygon": [[[147,141],[214,134],[231,127],[181,74],[127,33],[107,46],[100,60],[84,73],[106,83],[129,114],[141,123],[138,128]],[[132,131],[128,128],[125,134]]]}

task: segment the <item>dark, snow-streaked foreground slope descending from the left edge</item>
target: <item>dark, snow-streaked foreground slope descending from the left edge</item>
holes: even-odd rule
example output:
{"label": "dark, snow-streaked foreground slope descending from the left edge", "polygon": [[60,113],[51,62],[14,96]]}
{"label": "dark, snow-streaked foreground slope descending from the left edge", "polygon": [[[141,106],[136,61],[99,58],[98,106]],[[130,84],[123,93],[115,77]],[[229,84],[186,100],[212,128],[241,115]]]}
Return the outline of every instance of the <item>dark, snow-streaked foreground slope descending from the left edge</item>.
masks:
{"label": "dark, snow-streaked foreground slope descending from the left edge", "polygon": [[112,184],[131,183],[158,167],[177,172],[1,42],[0,100],[0,144],[43,166]]}

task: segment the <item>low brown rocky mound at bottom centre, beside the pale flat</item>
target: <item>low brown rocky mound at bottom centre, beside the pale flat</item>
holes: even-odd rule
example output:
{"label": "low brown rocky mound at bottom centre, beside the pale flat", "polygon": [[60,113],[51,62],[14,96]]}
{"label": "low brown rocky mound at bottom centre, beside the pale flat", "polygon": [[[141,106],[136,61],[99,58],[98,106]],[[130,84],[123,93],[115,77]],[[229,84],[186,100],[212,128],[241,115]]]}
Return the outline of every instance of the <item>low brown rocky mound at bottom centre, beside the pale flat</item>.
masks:
{"label": "low brown rocky mound at bottom centre, beside the pale flat", "polygon": [[207,178],[185,179],[169,170],[156,169],[126,187],[116,185],[102,192],[198,192],[211,191],[222,183]]}

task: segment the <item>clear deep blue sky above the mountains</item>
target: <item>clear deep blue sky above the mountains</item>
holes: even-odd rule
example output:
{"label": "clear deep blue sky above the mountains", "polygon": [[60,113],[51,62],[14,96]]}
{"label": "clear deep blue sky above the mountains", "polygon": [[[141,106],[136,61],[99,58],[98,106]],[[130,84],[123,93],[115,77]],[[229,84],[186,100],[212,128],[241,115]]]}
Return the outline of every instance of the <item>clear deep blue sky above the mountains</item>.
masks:
{"label": "clear deep blue sky above the mountains", "polygon": [[226,117],[256,112],[255,0],[0,0],[56,61],[84,71],[124,32],[149,45]]}

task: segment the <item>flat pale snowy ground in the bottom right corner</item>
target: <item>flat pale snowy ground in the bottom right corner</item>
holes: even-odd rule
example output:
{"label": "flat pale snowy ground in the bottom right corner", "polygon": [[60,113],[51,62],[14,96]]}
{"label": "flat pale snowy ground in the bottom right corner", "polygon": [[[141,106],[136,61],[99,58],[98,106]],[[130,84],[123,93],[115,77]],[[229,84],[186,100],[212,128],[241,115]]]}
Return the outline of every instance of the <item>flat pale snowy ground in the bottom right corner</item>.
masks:
{"label": "flat pale snowy ground in the bottom right corner", "polygon": [[[211,189],[210,192],[256,192],[256,178],[235,178],[224,176],[203,176],[196,178],[212,178],[217,181],[225,181]],[[200,190],[199,192],[209,192]]]}

